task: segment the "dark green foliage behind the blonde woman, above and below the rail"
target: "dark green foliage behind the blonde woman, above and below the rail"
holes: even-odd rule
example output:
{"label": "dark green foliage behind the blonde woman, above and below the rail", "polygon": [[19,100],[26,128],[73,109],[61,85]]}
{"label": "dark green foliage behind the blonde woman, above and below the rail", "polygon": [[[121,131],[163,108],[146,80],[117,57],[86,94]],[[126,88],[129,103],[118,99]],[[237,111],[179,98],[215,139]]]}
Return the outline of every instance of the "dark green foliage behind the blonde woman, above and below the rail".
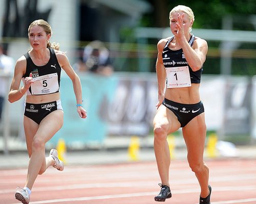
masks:
{"label": "dark green foliage behind the blonde woman, above and below the rail", "polygon": [[[256,0],[147,0],[152,6],[151,13],[142,16],[139,26],[166,28],[169,26],[169,12],[177,5],[190,7],[195,15],[193,28],[198,29],[223,29],[223,19],[230,17],[233,30],[256,30]],[[227,28],[225,28],[227,29]],[[148,42],[156,44],[156,42]],[[221,42],[208,41],[208,54],[204,63],[204,73],[220,73],[220,49]],[[146,52],[146,50],[144,50]],[[157,53],[157,50],[156,50]],[[156,57],[151,55],[152,57]],[[151,67],[148,70],[155,71],[155,59],[151,59]],[[256,74],[256,43],[241,43],[232,56],[232,74],[255,75]]]}

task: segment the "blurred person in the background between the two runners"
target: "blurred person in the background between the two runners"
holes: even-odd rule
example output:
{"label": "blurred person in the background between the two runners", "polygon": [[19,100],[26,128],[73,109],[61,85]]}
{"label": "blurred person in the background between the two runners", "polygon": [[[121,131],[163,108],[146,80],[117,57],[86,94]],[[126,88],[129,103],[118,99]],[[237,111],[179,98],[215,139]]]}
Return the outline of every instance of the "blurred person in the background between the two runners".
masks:
{"label": "blurred person in the background between the two runners", "polygon": [[78,71],[91,71],[109,76],[113,72],[110,51],[101,41],[89,43],[83,50],[82,62],[76,64]]}

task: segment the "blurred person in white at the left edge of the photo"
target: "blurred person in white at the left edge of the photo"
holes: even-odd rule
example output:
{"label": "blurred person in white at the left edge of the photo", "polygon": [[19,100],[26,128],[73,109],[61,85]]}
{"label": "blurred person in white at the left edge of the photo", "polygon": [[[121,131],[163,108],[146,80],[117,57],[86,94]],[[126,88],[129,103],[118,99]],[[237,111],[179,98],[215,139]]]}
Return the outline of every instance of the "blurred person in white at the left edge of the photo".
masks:
{"label": "blurred person in white at the left edge of the photo", "polygon": [[[0,121],[4,107],[4,99],[7,96],[8,80],[5,75],[12,73],[14,70],[14,60],[4,54],[4,47],[0,44]],[[2,76],[1,76],[2,75]],[[8,85],[9,86],[9,85]]]}

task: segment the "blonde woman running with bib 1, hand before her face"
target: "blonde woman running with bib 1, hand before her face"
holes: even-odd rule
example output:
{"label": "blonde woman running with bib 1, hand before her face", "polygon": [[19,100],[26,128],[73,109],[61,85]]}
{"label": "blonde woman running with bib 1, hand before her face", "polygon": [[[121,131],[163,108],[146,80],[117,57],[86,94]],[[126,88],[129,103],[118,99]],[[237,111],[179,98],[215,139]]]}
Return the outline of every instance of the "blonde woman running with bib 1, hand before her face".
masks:
{"label": "blonde woman running with bib 1, hand before her face", "polygon": [[205,40],[190,33],[194,19],[189,7],[179,5],[173,8],[169,13],[169,22],[174,36],[161,39],[157,44],[158,104],[154,118],[154,150],[161,191],[155,196],[156,201],[172,197],[169,184],[170,154],[166,138],[182,127],[187,160],[201,187],[199,202],[210,203],[209,169],[203,161],[206,125],[199,95],[208,46]]}

